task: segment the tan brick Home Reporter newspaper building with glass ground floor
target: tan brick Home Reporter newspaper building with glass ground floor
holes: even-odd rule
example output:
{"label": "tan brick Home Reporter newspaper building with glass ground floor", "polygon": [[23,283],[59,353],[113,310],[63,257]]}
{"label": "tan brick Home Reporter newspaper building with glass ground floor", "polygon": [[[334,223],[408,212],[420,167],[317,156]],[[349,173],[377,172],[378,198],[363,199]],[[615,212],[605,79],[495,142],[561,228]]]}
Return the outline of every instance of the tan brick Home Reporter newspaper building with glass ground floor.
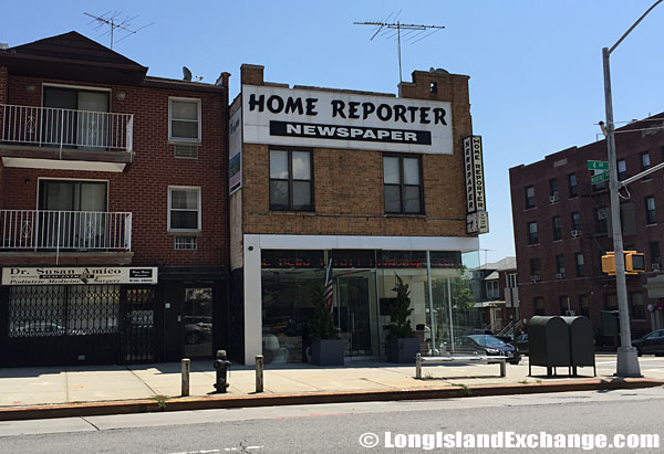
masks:
{"label": "tan brick Home Reporter newspaper building with glass ground floor", "polygon": [[[467,224],[468,76],[416,71],[395,97],[268,83],[262,66],[242,65],[241,84],[229,146],[237,359],[308,360],[308,288],[329,266],[346,357],[384,355],[397,275],[421,340],[450,341],[450,281],[479,265],[478,230]],[[484,210],[484,191],[476,196]],[[466,326],[464,310],[454,317]]]}

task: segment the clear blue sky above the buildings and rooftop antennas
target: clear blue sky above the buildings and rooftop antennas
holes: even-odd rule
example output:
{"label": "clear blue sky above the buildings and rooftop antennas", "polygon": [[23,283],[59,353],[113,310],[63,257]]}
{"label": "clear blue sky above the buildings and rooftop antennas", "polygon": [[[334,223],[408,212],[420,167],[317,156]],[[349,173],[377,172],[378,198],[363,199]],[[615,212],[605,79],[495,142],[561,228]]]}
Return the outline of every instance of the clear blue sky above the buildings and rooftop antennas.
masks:
{"label": "clear blue sky above the buildings and rooftop antennas", "polygon": [[[10,46],[72,30],[110,45],[104,29],[83,13],[135,17],[128,28],[141,30],[118,31],[116,52],[153,76],[181,78],[187,66],[214,83],[229,72],[231,98],[243,63],[264,65],[266,81],[291,86],[396,93],[396,40],[385,34],[371,41],[374,29],[353,22],[398,14],[402,23],[445,27],[419,42],[402,42],[403,80],[430,67],[470,76],[489,212],[490,233],[480,235],[484,263],[515,254],[509,168],[598,139],[596,124],[605,116],[602,47],[611,47],[654,0],[6,3],[0,42]],[[616,123],[664,110],[663,24],[664,3],[611,55]]]}

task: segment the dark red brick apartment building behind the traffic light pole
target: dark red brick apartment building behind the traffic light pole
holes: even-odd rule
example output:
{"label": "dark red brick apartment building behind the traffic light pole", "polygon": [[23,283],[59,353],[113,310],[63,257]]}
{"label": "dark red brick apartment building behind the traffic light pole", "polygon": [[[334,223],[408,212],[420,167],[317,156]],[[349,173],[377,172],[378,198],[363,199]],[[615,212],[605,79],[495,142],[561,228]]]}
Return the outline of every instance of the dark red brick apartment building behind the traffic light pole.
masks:
{"label": "dark red brick apartment building behind the traffic light pole", "polygon": [[[619,180],[664,160],[663,118],[658,114],[616,130]],[[509,170],[521,314],[583,315],[598,342],[613,344],[602,324],[603,310],[618,309],[615,278],[601,265],[601,256],[613,251],[609,182],[591,183],[602,171],[588,170],[588,160],[606,160],[605,140]],[[634,337],[663,321],[664,307],[645,287],[662,265],[663,182],[656,171],[621,190],[624,250],[644,253],[646,262],[645,273],[626,276]]]}

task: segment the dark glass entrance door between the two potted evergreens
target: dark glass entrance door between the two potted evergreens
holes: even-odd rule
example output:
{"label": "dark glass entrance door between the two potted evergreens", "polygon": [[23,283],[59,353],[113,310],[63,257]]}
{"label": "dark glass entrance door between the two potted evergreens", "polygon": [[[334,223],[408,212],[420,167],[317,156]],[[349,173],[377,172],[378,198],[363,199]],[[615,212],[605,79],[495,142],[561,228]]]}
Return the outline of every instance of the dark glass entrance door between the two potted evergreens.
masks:
{"label": "dark glass entrance door between the two potted evergreens", "polygon": [[344,353],[350,357],[377,356],[375,274],[371,271],[346,271],[336,275],[335,281],[335,324],[344,340]]}

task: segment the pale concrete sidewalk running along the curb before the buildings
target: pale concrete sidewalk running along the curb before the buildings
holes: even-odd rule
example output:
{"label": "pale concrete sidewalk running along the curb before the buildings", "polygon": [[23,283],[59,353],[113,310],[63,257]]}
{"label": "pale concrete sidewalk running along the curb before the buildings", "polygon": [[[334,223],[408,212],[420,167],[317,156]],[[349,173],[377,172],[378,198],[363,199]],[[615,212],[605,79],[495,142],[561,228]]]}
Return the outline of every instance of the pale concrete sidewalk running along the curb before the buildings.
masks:
{"label": "pale concrete sidewalk running along the curb before the buildings", "polygon": [[[580,368],[580,377],[547,378],[546,368],[528,359],[507,366],[499,377],[498,365],[424,366],[416,380],[415,366],[380,361],[346,361],[344,367],[267,365],[264,392],[256,393],[252,367],[234,366],[228,393],[214,393],[212,361],[190,365],[190,397],[180,398],[180,365],[90,366],[62,368],[0,369],[0,420],[51,418],[42,414],[108,414],[133,411],[193,410],[198,408],[258,407],[330,401],[400,400],[505,393],[572,391],[577,389],[644,388],[664,384],[664,365],[644,370],[647,379],[615,379],[614,355],[598,355],[598,377],[592,368]],[[660,361],[660,362],[657,362]],[[103,403],[101,403],[103,402]],[[44,412],[50,409],[49,413]],[[60,413],[53,410],[60,409]],[[85,410],[87,409],[87,410]],[[96,409],[96,410],[91,410]],[[65,412],[66,410],[66,412]],[[76,413],[79,411],[79,413]],[[20,414],[24,413],[24,414]]]}

